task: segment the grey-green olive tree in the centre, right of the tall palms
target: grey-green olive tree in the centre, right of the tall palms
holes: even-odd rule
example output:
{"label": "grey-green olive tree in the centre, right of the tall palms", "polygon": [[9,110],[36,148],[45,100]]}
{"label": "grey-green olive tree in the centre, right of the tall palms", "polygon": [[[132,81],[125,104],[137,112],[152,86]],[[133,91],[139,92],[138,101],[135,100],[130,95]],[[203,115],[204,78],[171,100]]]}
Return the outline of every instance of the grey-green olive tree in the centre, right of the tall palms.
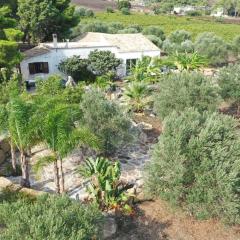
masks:
{"label": "grey-green olive tree in the centre, right of the tall palms", "polygon": [[81,103],[84,123],[100,138],[102,151],[112,154],[133,140],[131,122],[120,107],[97,91],[83,95]]}

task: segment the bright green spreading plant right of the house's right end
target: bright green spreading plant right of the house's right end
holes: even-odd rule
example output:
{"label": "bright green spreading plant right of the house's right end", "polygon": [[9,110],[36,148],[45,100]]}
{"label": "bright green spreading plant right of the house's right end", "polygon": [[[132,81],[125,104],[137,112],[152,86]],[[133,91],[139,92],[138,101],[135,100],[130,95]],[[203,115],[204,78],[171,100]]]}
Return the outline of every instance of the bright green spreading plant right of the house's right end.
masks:
{"label": "bright green spreading plant right of the house's right end", "polygon": [[199,69],[207,64],[207,60],[199,55],[197,52],[192,54],[188,53],[176,53],[174,56],[175,65],[180,70],[196,70]]}

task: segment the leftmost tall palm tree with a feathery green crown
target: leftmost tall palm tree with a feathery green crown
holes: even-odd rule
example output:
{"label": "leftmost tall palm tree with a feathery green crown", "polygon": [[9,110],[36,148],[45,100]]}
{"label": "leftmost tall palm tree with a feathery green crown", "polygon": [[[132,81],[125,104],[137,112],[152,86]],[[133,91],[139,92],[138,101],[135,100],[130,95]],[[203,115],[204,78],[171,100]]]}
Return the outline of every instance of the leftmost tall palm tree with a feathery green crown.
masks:
{"label": "leftmost tall palm tree with a feathery green crown", "polygon": [[37,142],[38,137],[34,122],[35,106],[16,97],[8,104],[8,129],[13,143],[20,152],[22,169],[21,185],[30,187],[29,181],[29,149]]}

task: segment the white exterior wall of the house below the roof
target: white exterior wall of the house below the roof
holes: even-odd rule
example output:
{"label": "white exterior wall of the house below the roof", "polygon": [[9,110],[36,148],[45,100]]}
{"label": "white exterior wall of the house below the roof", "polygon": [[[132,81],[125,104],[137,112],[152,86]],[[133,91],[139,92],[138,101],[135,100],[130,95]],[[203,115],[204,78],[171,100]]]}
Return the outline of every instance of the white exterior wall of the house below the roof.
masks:
{"label": "white exterior wall of the house below the roof", "polygon": [[[34,80],[36,77],[47,77],[50,74],[61,74],[64,76],[59,70],[59,63],[69,57],[74,55],[80,55],[82,58],[87,58],[89,53],[95,49],[98,50],[109,50],[115,53],[117,58],[123,60],[123,64],[118,68],[117,74],[122,77],[126,75],[126,60],[127,59],[140,59],[142,56],[160,56],[160,51],[144,51],[144,52],[118,52],[116,47],[91,47],[91,48],[57,48],[51,49],[49,53],[32,57],[26,60],[23,60],[20,64],[21,72],[24,80]],[[49,65],[49,74],[34,74],[30,75],[28,64],[34,62],[48,62]]]}

